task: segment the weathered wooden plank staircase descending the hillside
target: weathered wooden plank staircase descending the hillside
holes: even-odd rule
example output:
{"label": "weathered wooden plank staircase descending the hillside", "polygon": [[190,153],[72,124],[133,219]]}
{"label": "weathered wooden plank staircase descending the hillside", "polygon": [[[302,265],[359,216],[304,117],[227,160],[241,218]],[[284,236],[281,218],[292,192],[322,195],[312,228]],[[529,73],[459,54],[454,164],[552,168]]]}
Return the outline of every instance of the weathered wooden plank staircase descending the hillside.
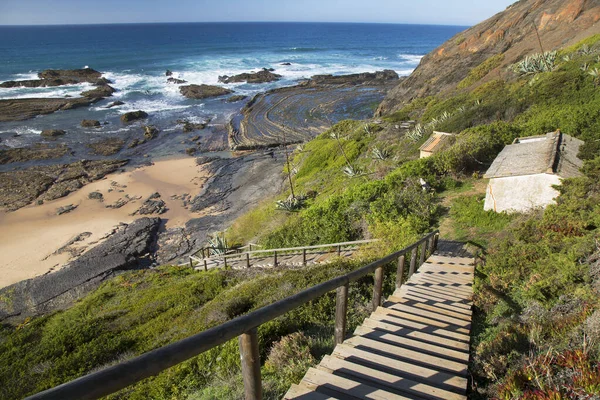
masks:
{"label": "weathered wooden plank staircase descending the hillside", "polygon": [[466,399],[473,262],[429,257],[284,399]]}

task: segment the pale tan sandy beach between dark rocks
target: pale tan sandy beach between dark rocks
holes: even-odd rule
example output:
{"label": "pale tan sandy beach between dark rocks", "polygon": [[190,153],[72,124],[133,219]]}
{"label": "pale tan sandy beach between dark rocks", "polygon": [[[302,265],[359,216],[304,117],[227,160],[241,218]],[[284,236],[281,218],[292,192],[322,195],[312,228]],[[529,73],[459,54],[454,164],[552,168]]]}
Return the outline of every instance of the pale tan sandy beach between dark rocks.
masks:
{"label": "pale tan sandy beach between dark rocks", "polygon": [[[166,228],[183,226],[200,214],[185,208],[181,196],[197,195],[208,178],[195,158],[161,160],[151,166],[107,175],[58,200],[0,212],[0,288],[61,268],[71,253],[57,254],[58,249],[84,232],[91,235],[71,249],[84,250],[96,244],[120,223],[140,218],[132,214],[155,192],[168,208],[160,215]],[[89,199],[91,192],[102,193],[104,200]],[[106,207],[126,199],[125,196],[133,200],[120,208]],[[77,208],[57,215],[59,207],[69,204]]]}

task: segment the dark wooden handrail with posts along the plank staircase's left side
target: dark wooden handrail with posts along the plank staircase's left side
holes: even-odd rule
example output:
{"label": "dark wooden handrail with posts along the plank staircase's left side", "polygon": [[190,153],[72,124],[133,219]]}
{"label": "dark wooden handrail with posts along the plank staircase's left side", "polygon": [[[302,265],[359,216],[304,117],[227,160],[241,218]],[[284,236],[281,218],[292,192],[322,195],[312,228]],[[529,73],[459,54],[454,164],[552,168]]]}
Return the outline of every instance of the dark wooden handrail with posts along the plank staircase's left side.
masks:
{"label": "dark wooden handrail with posts along the plank staircase's left side", "polygon": [[[64,383],[30,396],[27,399],[98,399],[133,385],[142,379],[157,375],[167,368],[228,342],[235,337],[239,337],[245,398],[247,400],[261,399],[262,386],[257,334],[259,326],[301,307],[332,290],[336,290],[335,343],[342,343],[346,336],[348,287],[350,283],[375,272],[372,302],[374,308],[380,306],[384,266],[390,262],[397,261],[396,286],[400,287],[403,283],[402,278],[407,256],[410,256],[408,270],[408,276],[410,277],[417,270],[418,266],[423,264],[426,254],[431,254],[436,249],[438,236],[439,231],[431,232],[418,242],[346,275],[303,290],[293,296],[279,300],[271,305],[232,319],[194,336]],[[418,256],[419,265],[417,265]]]}

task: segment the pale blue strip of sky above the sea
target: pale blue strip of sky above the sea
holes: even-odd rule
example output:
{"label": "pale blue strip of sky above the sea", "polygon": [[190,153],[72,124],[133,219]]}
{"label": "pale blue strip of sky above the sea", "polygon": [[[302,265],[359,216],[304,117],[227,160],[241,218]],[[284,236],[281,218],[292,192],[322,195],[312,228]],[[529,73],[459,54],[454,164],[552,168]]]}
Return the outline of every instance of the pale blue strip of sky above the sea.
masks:
{"label": "pale blue strip of sky above the sea", "polygon": [[515,0],[0,0],[0,25],[310,21],[474,25]]}

